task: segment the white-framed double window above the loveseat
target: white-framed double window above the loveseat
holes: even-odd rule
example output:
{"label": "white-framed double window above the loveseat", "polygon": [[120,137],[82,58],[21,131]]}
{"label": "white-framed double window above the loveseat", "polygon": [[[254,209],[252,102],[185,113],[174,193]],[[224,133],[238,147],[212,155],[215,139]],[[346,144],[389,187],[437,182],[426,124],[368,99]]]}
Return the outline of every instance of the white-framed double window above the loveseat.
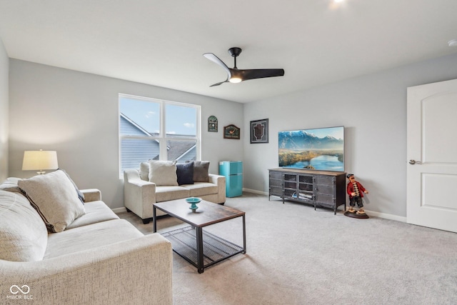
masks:
{"label": "white-framed double window above the loveseat", "polygon": [[119,94],[119,174],[148,160],[199,160],[198,105]]}

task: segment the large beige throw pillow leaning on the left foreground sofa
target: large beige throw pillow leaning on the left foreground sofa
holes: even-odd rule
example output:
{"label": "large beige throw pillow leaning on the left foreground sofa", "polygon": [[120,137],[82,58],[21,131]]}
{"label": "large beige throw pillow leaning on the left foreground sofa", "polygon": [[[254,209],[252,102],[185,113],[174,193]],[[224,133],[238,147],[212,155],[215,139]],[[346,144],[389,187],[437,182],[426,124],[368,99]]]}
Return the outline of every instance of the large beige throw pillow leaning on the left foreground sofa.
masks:
{"label": "large beige throw pillow leaning on the left foreground sofa", "polygon": [[64,171],[58,169],[23,179],[18,185],[51,232],[64,231],[66,226],[86,213]]}

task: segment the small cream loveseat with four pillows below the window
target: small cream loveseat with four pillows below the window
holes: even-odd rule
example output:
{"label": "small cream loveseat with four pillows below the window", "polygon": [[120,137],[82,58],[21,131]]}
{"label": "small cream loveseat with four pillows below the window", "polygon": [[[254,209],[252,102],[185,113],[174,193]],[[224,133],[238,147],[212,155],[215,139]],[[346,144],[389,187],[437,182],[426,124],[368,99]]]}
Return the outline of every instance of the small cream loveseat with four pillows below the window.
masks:
{"label": "small cream loveseat with four pillows below the window", "polygon": [[[124,205],[141,217],[152,220],[156,202],[199,197],[215,204],[226,202],[226,178],[209,174],[209,161],[174,164],[167,161],[141,162],[139,169],[124,171]],[[157,216],[164,212],[157,210]]]}

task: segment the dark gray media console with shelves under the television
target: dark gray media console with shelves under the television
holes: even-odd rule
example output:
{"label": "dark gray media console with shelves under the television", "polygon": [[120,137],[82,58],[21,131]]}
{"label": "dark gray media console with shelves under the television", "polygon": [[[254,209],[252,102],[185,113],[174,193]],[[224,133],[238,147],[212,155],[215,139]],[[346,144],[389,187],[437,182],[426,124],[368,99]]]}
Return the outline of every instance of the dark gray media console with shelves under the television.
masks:
{"label": "dark gray media console with shelves under the television", "polygon": [[344,205],[346,211],[346,174],[335,171],[307,169],[268,169],[270,196],[333,209]]}

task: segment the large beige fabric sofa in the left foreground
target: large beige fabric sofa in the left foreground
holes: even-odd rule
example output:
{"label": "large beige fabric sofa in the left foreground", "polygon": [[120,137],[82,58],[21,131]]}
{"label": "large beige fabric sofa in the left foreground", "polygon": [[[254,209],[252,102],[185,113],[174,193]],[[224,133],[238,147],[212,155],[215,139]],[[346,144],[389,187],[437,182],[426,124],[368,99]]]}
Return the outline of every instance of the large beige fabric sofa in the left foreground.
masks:
{"label": "large beige fabric sofa in the left foreground", "polygon": [[[50,214],[37,191],[51,198],[49,205],[55,190],[24,180],[0,185],[1,304],[172,304],[169,241],[160,234],[144,236],[119,219],[96,189],[80,191],[84,204],[76,189],[57,194],[57,206],[64,207],[54,205]],[[27,189],[25,196],[19,186]],[[81,215],[58,219],[69,215],[59,214],[67,204],[74,205],[70,214]]]}

